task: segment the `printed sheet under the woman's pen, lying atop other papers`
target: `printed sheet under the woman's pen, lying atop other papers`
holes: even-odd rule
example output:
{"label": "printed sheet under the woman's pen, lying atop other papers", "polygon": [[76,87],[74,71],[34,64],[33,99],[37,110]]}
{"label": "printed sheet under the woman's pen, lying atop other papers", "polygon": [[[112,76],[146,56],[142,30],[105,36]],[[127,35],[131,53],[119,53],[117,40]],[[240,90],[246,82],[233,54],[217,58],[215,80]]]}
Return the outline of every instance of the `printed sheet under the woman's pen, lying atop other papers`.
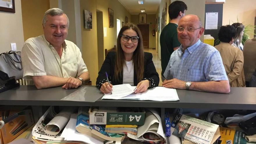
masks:
{"label": "printed sheet under the woman's pen, lying atop other papers", "polygon": [[105,93],[102,99],[119,99],[134,92],[134,89],[130,84],[114,85],[112,89],[112,94]]}

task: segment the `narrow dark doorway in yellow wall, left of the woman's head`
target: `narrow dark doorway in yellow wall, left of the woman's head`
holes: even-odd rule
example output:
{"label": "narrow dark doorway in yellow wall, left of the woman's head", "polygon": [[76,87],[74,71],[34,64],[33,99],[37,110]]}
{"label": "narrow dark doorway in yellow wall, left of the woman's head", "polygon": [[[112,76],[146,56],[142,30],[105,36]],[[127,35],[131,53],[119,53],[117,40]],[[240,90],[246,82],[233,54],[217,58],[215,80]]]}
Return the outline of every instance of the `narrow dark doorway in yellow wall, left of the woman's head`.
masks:
{"label": "narrow dark doorway in yellow wall, left of the woman's head", "polygon": [[97,17],[97,45],[98,45],[98,68],[100,70],[104,61],[104,41],[103,41],[103,13],[96,10]]}

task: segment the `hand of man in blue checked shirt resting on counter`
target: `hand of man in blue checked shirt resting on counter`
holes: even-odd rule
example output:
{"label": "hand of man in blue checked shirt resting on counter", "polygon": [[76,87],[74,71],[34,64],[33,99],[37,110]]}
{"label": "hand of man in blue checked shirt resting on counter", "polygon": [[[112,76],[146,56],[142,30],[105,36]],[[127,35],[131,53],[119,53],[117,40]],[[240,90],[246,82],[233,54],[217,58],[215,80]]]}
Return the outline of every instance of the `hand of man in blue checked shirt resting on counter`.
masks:
{"label": "hand of man in blue checked shirt resting on counter", "polygon": [[177,88],[177,89],[186,89],[185,81],[181,81],[178,79],[170,79],[170,80],[164,80],[163,81],[163,87],[166,88]]}

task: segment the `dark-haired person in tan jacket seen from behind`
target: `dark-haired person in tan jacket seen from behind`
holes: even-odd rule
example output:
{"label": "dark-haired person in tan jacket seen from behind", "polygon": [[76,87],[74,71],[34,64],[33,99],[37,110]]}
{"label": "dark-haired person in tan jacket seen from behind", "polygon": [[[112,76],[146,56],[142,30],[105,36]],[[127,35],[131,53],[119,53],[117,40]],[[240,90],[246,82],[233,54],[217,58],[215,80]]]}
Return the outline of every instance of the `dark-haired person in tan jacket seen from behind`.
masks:
{"label": "dark-haired person in tan jacket seen from behind", "polygon": [[231,87],[245,87],[243,72],[243,52],[231,44],[234,41],[236,29],[234,26],[221,26],[218,33],[221,43],[215,48],[220,52],[223,65]]}

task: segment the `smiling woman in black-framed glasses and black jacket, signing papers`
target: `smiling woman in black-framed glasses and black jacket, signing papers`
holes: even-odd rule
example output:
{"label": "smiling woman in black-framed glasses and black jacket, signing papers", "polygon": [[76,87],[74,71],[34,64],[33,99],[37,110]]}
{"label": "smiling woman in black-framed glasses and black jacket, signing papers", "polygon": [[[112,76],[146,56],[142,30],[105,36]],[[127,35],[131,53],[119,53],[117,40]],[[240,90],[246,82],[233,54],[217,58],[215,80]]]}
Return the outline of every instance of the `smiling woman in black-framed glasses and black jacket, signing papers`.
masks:
{"label": "smiling woman in black-framed glasses and black jacket, signing papers", "polygon": [[[144,52],[142,35],[135,24],[125,24],[117,38],[116,52],[109,52],[99,71],[96,85],[102,93],[110,93],[112,85],[131,84],[141,93],[159,84],[152,54]],[[109,82],[106,79],[108,74]]]}

